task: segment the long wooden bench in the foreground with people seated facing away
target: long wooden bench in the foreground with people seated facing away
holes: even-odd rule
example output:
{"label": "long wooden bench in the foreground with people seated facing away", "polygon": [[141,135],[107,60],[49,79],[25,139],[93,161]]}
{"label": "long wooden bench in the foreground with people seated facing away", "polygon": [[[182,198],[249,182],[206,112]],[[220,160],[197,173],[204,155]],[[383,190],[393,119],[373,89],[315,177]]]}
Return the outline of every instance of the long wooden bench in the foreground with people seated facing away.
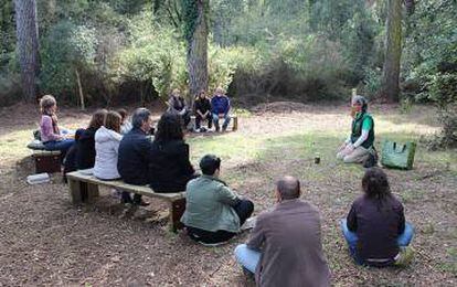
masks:
{"label": "long wooden bench in the foreground with people seated facing away", "polygon": [[73,204],[93,203],[98,198],[99,185],[115,188],[121,191],[167,201],[169,203],[169,225],[171,230],[176,232],[183,227],[180,219],[185,210],[185,192],[156,193],[147,185],[128,184],[121,180],[100,180],[87,173],[87,170],[83,170],[68,172],[66,174]]}

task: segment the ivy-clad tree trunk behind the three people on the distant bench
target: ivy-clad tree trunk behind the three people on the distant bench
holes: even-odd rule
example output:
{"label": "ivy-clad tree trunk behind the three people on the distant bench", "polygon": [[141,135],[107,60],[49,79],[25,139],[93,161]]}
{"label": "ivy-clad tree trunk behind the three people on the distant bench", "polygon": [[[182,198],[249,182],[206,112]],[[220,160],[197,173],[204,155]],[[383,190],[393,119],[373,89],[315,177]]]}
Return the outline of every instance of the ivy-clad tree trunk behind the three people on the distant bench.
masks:
{"label": "ivy-clad tree trunk behind the three people on the distant bench", "polygon": [[[191,104],[202,89],[208,91],[208,13],[209,0],[193,0],[196,7],[194,30],[188,39],[188,72]],[[192,19],[187,19],[188,21]]]}

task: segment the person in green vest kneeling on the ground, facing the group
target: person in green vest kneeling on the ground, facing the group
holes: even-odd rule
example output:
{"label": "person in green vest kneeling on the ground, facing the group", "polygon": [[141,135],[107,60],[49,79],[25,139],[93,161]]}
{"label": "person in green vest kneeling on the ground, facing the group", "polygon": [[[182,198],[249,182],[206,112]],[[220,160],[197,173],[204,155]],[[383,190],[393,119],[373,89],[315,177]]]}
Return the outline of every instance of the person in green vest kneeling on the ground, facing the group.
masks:
{"label": "person in green vest kneeling on the ground, facing the group", "polygon": [[352,98],[352,130],[348,139],[339,148],[337,158],[347,163],[363,162],[374,153],[374,121],[368,114],[368,103],[362,96]]}

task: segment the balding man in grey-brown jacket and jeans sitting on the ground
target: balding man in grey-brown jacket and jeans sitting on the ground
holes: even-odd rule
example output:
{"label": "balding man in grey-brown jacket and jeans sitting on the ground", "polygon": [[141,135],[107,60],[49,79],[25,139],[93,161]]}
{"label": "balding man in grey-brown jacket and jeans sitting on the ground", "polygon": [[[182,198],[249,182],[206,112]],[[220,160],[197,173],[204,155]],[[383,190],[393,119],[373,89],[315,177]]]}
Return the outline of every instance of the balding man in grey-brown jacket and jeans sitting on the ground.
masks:
{"label": "balding man in grey-brown jacket and jeans sitting on the ground", "polygon": [[299,199],[293,177],[279,180],[275,194],[275,209],[257,216],[247,244],[235,248],[236,261],[255,273],[257,286],[330,286],[318,209]]}

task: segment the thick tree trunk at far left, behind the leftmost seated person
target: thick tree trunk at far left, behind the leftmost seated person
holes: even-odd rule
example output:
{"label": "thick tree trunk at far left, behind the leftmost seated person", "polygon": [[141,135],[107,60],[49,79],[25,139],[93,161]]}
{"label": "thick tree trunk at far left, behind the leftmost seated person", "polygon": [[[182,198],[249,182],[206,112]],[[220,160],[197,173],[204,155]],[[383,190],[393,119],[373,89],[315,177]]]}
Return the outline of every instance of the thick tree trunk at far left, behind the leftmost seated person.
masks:
{"label": "thick tree trunk at far left, behind the leftmost seated person", "polygon": [[14,0],[19,64],[25,100],[36,97],[35,77],[39,72],[39,31],[35,0]]}

